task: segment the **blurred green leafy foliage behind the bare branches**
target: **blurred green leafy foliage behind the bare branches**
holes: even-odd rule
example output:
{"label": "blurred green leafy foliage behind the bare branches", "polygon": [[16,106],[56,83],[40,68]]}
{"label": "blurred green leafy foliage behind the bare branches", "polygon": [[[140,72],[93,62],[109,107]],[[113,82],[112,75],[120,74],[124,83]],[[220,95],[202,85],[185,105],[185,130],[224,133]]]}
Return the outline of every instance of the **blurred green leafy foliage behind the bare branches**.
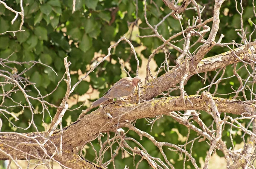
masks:
{"label": "blurred green leafy foliage behind the bare branches", "polygon": [[[20,11],[20,0],[7,0],[6,4],[16,11]],[[70,65],[70,70],[72,70],[72,85],[74,85],[79,80],[79,76],[82,73],[86,73],[90,69],[90,65],[95,64],[97,60],[101,59],[102,56],[105,56],[108,51],[108,47],[116,42],[120,37],[126,34],[126,37],[131,39],[132,44],[136,47],[137,50],[140,49],[141,53],[138,53],[138,58],[140,61],[146,61],[148,56],[151,54],[153,49],[157,48],[163,42],[156,37],[149,38],[137,38],[136,34],[139,35],[150,35],[154,32],[151,29],[143,29],[146,28],[147,25],[145,23],[144,11],[143,11],[143,1],[138,0],[137,8],[138,13],[136,15],[136,1],[133,0],[76,0],[76,11],[72,13],[72,0],[23,0],[24,7],[24,24],[22,29],[25,31],[17,32],[16,36],[12,33],[6,33],[0,36],[0,58],[7,58],[10,54],[15,52],[9,60],[15,60],[18,62],[27,62],[31,60],[42,62],[46,65],[51,66],[57,73],[58,76],[50,69],[43,65],[35,65],[30,70],[28,70],[23,77],[28,78],[31,82],[35,82],[35,86],[40,90],[41,94],[44,96],[47,93],[50,93],[56,85],[58,81],[61,79],[65,72],[63,59],[65,56],[68,56],[68,60],[72,63]],[[206,6],[202,19],[206,20],[209,17],[212,17],[213,11],[213,1],[208,0],[198,0],[198,4],[201,6]],[[163,19],[166,14],[169,14],[171,10],[166,7],[161,0],[154,0],[154,3],[150,3],[147,1],[147,18],[151,25],[156,25],[160,20]],[[244,28],[247,32],[251,32],[253,30],[253,25],[248,20],[252,18],[253,22],[256,22],[256,18],[253,16],[253,7],[249,4],[252,4],[252,0],[243,1],[244,6]],[[180,3],[179,3],[180,5]],[[114,9],[117,8],[116,11]],[[188,10],[183,13],[182,26],[185,28],[188,20],[193,20],[193,16],[196,16],[195,11]],[[11,24],[12,19],[15,17],[15,14],[0,4],[0,33],[5,31],[16,31],[19,29],[21,19],[20,17]],[[137,23],[139,23],[139,27],[131,26],[132,22],[138,19]],[[240,28],[240,15],[236,11],[235,1],[225,1],[223,6],[221,7],[220,14],[220,29],[218,31],[218,37],[221,34],[224,34],[222,42],[232,42],[235,40],[236,42],[240,42],[240,38],[237,35],[235,29]],[[209,23],[211,26],[212,23]],[[134,28],[134,31],[131,34],[131,29]],[[164,38],[169,38],[170,36],[176,34],[181,31],[180,24],[177,20],[172,17],[168,17],[165,22],[163,22],[158,31],[163,35]],[[247,34],[249,37],[250,34]],[[207,37],[207,35],[206,35]],[[218,40],[218,37],[216,38]],[[182,37],[177,37],[175,40],[179,40]],[[256,34],[252,35],[252,39],[256,38]],[[196,37],[192,37],[191,43],[197,40]],[[183,48],[183,40],[180,42],[176,42],[180,48]],[[198,46],[195,45],[191,52],[195,51]],[[231,46],[232,47],[232,46]],[[171,52],[171,58],[169,60],[169,65],[175,65],[175,59],[179,55],[177,51],[174,49],[169,49]],[[205,57],[214,56],[216,54],[221,54],[222,52],[228,51],[227,48],[214,47]],[[88,92],[89,89],[99,91],[99,96],[105,91],[108,90],[111,84],[118,81],[122,78],[124,73],[121,70],[121,65],[118,61],[118,57],[123,59],[126,63],[129,63],[131,69],[131,76],[135,76],[137,62],[134,58],[134,55],[131,54],[130,46],[126,42],[120,42],[119,45],[115,48],[115,50],[111,51],[111,58],[104,61],[101,65],[99,65],[94,72],[90,73],[89,80],[81,82],[81,84],[76,87],[73,96],[81,96],[84,93],[90,95]],[[157,67],[160,67],[160,64],[164,61],[165,56],[163,52],[156,54],[154,57],[154,61]],[[25,65],[17,65],[17,64],[9,64],[10,67],[15,67],[17,72],[21,72],[24,68],[29,68],[32,64]],[[241,64],[238,64],[238,67]],[[129,69],[129,66],[126,66]],[[2,67],[1,70],[8,70],[8,68]],[[145,70],[145,68],[144,68]],[[247,73],[245,70],[241,69],[240,76],[246,77]],[[162,71],[160,75],[165,73]],[[208,79],[206,84],[203,84],[202,79],[198,76],[193,76],[189,79],[188,83],[185,86],[186,93],[188,95],[195,94],[195,91],[200,89],[203,86],[209,85],[212,81],[212,78],[215,76],[216,72],[208,73]],[[229,66],[226,69],[225,76],[230,76],[233,74],[233,67]],[[201,76],[204,76],[202,74]],[[224,77],[225,77],[224,76]],[[218,76],[219,77],[219,76]],[[144,78],[144,77],[142,77]],[[1,82],[4,82],[4,78],[0,78]],[[235,89],[239,87],[239,82],[237,79],[233,79],[232,81],[222,82],[221,85],[218,86],[218,93],[230,93],[233,86]],[[10,90],[12,85],[5,85],[5,90]],[[35,88],[29,88],[29,94],[31,96],[37,96],[37,91]],[[210,90],[211,93],[214,91],[214,87]],[[59,105],[61,99],[63,98],[66,91],[65,82],[61,82],[57,90],[50,96],[46,97],[45,100]],[[90,91],[91,92],[91,91]],[[0,90],[1,93],[1,90]],[[179,96],[179,91],[172,92],[173,96]],[[249,93],[248,93],[249,94]],[[230,98],[233,95],[221,96],[224,98]],[[15,101],[21,101],[21,104],[25,103],[25,98],[21,92],[12,93],[11,98]],[[0,96],[0,101],[2,97]],[[44,122],[50,124],[51,118],[48,114],[40,113],[42,111],[42,107],[40,102],[36,102],[31,100],[34,107],[38,107],[38,113],[35,115],[34,120],[38,127],[38,130],[44,131],[44,126],[42,125],[42,119],[44,118]],[[6,99],[4,105],[11,105],[13,101],[11,99]],[[75,105],[70,107],[70,109],[74,109],[79,107],[79,105],[83,104],[82,101],[78,101]],[[13,107],[9,108],[10,112],[20,113],[21,107]],[[82,106],[81,109],[86,109],[86,106]],[[79,114],[81,113],[81,109],[74,111],[67,111],[64,115],[62,125],[66,126],[68,122],[67,118],[71,117],[71,121],[76,121]],[[49,113],[53,117],[56,112],[54,107],[49,107]],[[14,121],[11,116],[8,116],[11,121],[19,126],[19,127],[27,127],[29,123],[29,119],[31,119],[31,112],[29,110],[24,110],[23,113],[19,115],[20,120]],[[3,115],[0,115],[0,118],[3,120],[3,128],[2,131],[11,132],[32,132],[35,131],[34,128],[29,128],[28,130],[17,129],[12,127],[9,124],[6,118]],[[201,118],[204,123],[210,125],[212,123],[212,117],[207,113],[201,112]],[[241,123],[247,123],[248,121],[241,121]],[[164,117],[158,120],[153,128],[152,132],[150,131],[150,127],[148,127],[145,119],[137,120],[136,126],[145,132],[153,135],[157,141],[165,141],[170,142],[172,144],[184,144],[186,135],[188,130],[186,127],[179,125],[176,121],[172,120],[172,118]],[[177,129],[177,130],[174,130]],[[236,130],[233,128],[233,130]],[[196,136],[196,133],[190,131],[191,136]],[[233,139],[235,144],[241,143],[241,133],[234,132]],[[227,128],[224,130],[223,140],[227,140],[227,147],[231,146],[231,142],[228,141],[230,138],[230,130]],[[130,131],[127,134],[128,137],[136,138],[140,141],[139,136]],[[225,139],[227,138],[227,139]],[[157,148],[153,146],[151,141],[145,140],[145,138],[140,141],[140,143],[147,149],[148,153],[154,157],[163,158]],[[131,146],[133,143],[130,143]],[[97,141],[93,141],[94,147],[99,150],[99,144]],[[190,147],[188,146],[189,150]],[[205,158],[206,152],[209,149],[209,145],[206,142],[198,143],[195,141],[193,146],[192,155],[195,157],[197,161],[200,158]],[[180,156],[176,152],[169,151],[167,148],[164,149],[166,155],[173,159],[175,163],[173,165],[175,168],[179,168],[179,166],[183,165],[183,160],[180,159]],[[223,156],[221,152],[218,152],[218,155]],[[93,149],[88,146],[84,152],[85,158],[90,161],[94,160],[95,154]],[[107,152],[105,155],[105,159],[111,158],[110,152]],[[181,158],[182,159],[182,158]],[[135,157],[135,163],[140,160],[139,157]],[[126,164],[132,164],[133,157],[129,156],[125,159],[122,159],[122,155],[118,155],[118,158],[115,160],[115,165],[117,168],[124,168]],[[193,167],[191,163],[187,162],[186,167]],[[112,166],[110,166],[111,168]],[[130,165],[130,169],[133,168],[133,165]],[[146,161],[142,161],[140,163],[140,168],[149,168],[148,163]]]}

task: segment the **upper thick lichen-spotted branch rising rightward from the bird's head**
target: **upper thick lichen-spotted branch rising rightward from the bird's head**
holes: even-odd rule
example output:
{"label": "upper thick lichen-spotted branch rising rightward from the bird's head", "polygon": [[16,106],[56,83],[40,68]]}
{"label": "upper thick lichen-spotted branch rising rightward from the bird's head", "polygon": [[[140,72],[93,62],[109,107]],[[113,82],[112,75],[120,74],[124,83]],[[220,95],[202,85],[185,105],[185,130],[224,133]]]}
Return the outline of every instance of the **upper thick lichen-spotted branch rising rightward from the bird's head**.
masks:
{"label": "upper thick lichen-spotted branch rising rightward from the bird's head", "polygon": [[[234,53],[238,57],[234,56]],[[189,69],[189,76],[192,76],[196,73],[203,73],[213,71],[218,68],[223,68],[227,65],[232,65],[234,63],[241,62],[241,60],[247,61],[248,58],[255,61],[255,54],[256,42],[253,42],[251,48],[248,51],[244,51],[244,47],[241,47],[236,48],[234,51],[228,51],[223,54],[202,59],[201,62],[198,63],[198,66],[196,68]],[[159,95],[160,93],[162,93],[163,91],[175,87],[179,82],[181,82],[185,70],[185,64],[182,64],[180,66],[177,65],[174,68],[172,68],[172,70],[170,70],[169,72],[147,83],[146,85],[140,88],[141,98],[144,100],[150,100],[155,96]],[[134,93],[130,99],[131,103],[135,103],[137,101],[137,94]]]}

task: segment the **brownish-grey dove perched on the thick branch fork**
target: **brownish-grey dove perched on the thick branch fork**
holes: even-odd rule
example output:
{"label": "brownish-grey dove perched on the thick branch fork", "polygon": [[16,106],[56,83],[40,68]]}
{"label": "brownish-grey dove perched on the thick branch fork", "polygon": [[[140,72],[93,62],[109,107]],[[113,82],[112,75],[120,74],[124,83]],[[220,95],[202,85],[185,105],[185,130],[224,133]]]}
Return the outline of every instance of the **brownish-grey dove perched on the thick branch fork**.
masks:
{"label": "brownish-grey dove perched on the thick branch fork", "polygon": [[134,90],[140,81],[141,79],[139,76],[134,78],[124,77],[120,79],[106,93],[103,94],[103,97],[94,101],[91,107],[97,107],[108,99],[130,96],[132,93],[134,93]]}

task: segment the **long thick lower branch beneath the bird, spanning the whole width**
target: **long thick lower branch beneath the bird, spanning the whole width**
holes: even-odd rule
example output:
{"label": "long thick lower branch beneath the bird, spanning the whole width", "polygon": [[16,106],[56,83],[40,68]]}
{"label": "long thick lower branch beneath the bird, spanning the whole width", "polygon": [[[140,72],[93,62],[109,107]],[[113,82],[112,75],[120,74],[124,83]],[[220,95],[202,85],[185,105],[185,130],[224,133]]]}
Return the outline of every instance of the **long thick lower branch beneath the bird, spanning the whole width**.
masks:
{"label": "long thick lower branch beneath the bird, spanning the whole width", "polygon": [[[139,118],[153,118],[157,115],[170,115],[172,111],[180,110],[204,110],[211,112],[211,108],[207,98],[201,95],[189,96],[189,100],[177,102],[178,97],[169,97],[162,99],[155,99],[153,101],[144,102],[142,104],[126,104],[125,101],[117,101],[115,104],[109,104],[103,108],[85,115],[84,118],[70,124],[63,129],[63,153],[58,156],[55,153],[55,159],[60,161],[65,166],[70,166],[68,162],[63,162],[67,157],[74,157],[76,151],[74,147],[82,146],[84,143],[97,138],[99,132],[116,131],[122,121],[134,121]],[[237,115],[250,116],[255,112],[253,104],[244,103],[238,100],[213,98],[219,112],[232,113]],[[111,114],[112,118],[107,116]],[[172,115],[171,115],[172,116]],[[185,121],[184,121],[185,123]],[[196,132],[200,132],[195,130]],[[202,132],[200,132],[202,134]],[[43,134],[43,133],[42,133]],[[206,134],[207,135],[207,134]],[[36,145],[27,145],[22,143],[35,143],[37,140],[41,142],[43,138],[37,133],[26,133],[23,137],[14,135],[12,133],[5,133],[0,135],[1,149],[17,159],[24,159],[25,156],[30,155],[30,159],[35,158],[49,158],[55,149],[52,149],[52,144],[56,147],[60,144],[61,131],[55,131],[50,137],[51,144],[44,144],[44,149],[47,150],[48,156],[45,156],[44,149]],[[210,139],[210,138],[209,138]],[[19,150],[15,149],[19,144]],[[35,152],[36,154],[33,154]],[[6,154],[0,154],[1,160],[9,159]],[[77,159],[77,158],[76,158]]]}

